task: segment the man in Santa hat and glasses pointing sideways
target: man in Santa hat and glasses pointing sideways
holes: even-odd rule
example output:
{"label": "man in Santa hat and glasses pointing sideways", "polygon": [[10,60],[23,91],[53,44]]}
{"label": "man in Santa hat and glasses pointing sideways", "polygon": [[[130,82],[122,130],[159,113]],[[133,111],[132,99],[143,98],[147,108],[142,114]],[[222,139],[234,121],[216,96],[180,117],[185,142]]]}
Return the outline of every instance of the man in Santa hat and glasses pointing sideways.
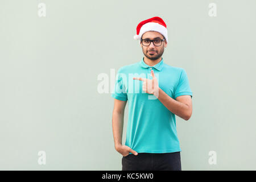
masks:
{"label": "man in Santa hat and glasses pointing sideways", "polygon": [[[192,115],[192,92],[183,68],[163,62],[167,26],[155,16],[137,26],[144,57],[118,70],[113,109],[115,150],[122,154],[122,170],[181,170],[175,115]],[[123,117],[129,101],[126,142]]]}

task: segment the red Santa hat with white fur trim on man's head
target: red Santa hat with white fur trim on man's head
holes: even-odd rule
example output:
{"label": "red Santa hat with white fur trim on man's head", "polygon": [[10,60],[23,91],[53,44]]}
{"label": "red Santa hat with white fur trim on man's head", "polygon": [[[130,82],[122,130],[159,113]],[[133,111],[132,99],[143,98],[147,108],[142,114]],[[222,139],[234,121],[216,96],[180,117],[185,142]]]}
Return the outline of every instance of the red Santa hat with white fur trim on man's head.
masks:
{"label": "red Santa hat with white fur trim on man's head", "polygon": [[153,18],[143,20],[141,23],[138,24],[136,30],[137,34],[134,35],[133,38],[135,40],[139,40],[140,43],[142,35],[144,34],[144,32],[147,31],[159,32],[164,36],[166,42],[168,43],[166,23],[164,23],[163,19],[158,16],[154,16]]}

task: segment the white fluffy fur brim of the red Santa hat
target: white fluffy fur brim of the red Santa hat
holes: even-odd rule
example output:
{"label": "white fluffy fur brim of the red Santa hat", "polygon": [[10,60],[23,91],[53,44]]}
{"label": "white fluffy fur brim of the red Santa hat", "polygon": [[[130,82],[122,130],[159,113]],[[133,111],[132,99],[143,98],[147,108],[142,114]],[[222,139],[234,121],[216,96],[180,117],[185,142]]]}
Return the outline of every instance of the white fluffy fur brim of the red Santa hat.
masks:
{"label": "white fluffy fur brim of the red Santa hat", "polygon": [[155,23],[155,22],[149,22],[146,24],[143,24],[141,27],[141,30],[139,31],[138,39],[141,42],[142,35],[147,31],[156,31],[159,32],[164,36],[166,39],[166,42],[168,43],[168,35],[167,35],[167,28],[162,26],[162,24]]}

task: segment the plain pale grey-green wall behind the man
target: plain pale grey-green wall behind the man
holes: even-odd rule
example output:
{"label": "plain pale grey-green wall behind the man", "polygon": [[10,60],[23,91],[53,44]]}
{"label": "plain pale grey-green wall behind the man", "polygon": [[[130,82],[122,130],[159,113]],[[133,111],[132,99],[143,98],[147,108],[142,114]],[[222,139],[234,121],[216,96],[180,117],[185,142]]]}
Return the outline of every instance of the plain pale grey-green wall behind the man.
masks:
{"label": "plain pale grey-green wall behind the man", "polygon": [[[46,4],[46,17],[38,4]],[[217,16],[208,15],[216,3]],[[0,169],[121,170],[110,76],[143,57],[137,24],[167,24],[166,64],[184,68],[189,121],[177,118],[183,170],[255,170],[256,1],[0,2]],[[125,142],[128,110],[125,113]],[[208,163],[209,151],[217,164]],[[46,151],[46,165],[38,152]]]}

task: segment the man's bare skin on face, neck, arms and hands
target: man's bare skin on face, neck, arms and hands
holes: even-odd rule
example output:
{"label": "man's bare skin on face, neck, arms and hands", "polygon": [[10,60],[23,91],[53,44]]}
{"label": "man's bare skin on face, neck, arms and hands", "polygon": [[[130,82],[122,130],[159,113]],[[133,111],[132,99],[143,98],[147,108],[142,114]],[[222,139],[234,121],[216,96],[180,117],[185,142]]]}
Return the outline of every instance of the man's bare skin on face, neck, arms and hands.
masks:
{"label": "man's bare skin on face, neck, arms and hands", "polygon": [[[153,40],[155,38],[163,39],[163,35],[159,32],[148,31],[142,35],[142,39],[150,39]],[[144,54],[144,62],[150,67],[158,64],[162,60],[162,55],[164,52],[164,48],[167,47],[166,40],[162,42],[161,46],[154,46],[151,42],[150,46],[143,46],[141,43],[142,52]],[[150,53],[150,51],[154,51],[154,53]],[[154,71],[151,70],[151,79],[134,77],[134,80],[143,81],[143,91],[148,94],[153,94],[164,106],[167,107],[175,115],[180,118],[188,121],[192,115],[192,99],[191,96],[179,96],[176,97],[176,100],[168,96],[161,88],[159,88],[158,80],[155,77]],[[117,150],[122,156],[129,155],[129,152],[134,155],[138,155],[138,153],[132,150],[130,147],[122,145],[122,133],[123,133],[123,117],[125,113],[125,106],[127,101],[120,101],[114,99],[114,109],[113,109],[113,117],[112,117],[112,128],[113,128],[113,136],[114,136],[114,145],[115,150]]]}

